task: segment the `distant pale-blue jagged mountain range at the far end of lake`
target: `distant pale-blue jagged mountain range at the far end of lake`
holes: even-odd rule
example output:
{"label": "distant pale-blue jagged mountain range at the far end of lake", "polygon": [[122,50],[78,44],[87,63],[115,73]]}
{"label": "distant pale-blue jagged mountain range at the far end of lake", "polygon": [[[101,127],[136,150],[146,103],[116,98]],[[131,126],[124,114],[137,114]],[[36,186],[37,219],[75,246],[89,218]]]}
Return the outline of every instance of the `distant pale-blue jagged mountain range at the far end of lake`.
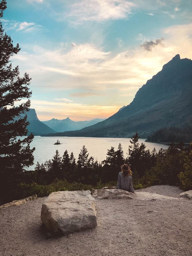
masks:
{"label": "distant pale-blue jagged mountain range at the far end of lake", "polygon": [[74,131],[74,130],[80,130],[84,127],[95,125],[96,123],[99,123],[105,119],[99,119],[95,118],[90,121],[72,121],[69,117],[63,120],[52,118],[48,121],[42,121],[42,123],[46,124],[48,127],[54,129],[57,132],[63,132],[63,131]]}

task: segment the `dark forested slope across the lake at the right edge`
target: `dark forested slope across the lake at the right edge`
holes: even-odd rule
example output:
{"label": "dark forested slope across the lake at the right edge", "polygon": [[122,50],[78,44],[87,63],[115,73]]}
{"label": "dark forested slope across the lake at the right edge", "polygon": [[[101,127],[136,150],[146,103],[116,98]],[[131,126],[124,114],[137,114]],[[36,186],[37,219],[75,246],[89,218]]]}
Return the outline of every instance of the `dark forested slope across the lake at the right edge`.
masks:
{"label": "dark forested slope across the lake at the right edge", "polygon": [[192,141],[192,126],[169,127],[155,131],[148,136],[149,142],[167,142],[167,143],[190,143]]}

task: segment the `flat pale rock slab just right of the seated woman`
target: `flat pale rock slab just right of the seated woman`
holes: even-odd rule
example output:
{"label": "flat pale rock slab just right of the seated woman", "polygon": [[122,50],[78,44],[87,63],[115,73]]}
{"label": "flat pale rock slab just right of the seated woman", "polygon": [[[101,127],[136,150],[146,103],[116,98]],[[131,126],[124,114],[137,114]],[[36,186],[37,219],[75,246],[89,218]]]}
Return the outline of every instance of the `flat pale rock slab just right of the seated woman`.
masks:
{"label": "flat pale rock slab just right of the seated woman", "polygon": [[166,195],[160,195],[157,193],[149,193],[149,192],[135,192],[133,195],[133,199],[139,199],[143,201],[149,201],[149,200],[178,200],[177,197],[171,197]]}

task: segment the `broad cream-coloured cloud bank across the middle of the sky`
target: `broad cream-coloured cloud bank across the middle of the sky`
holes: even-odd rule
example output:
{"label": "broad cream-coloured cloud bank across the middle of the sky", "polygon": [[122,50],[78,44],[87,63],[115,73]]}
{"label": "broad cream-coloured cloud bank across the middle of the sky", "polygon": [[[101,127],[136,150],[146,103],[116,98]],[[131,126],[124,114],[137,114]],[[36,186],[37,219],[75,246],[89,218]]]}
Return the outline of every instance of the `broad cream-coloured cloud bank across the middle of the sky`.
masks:
{"label": "broad cream-coloured cloud bank across the middle of the sky", "polygon": [[[13,65],[19,65],[21,74],[26,71],[32,77],[30,88],[33,91],[46,88],[51,94],[57,88],[58,94],[61,91],[67,99],[89,96],[86,102],[93,105],[105,102],[108,106],[117,105],[121,99],[127,105],[138,88],[176,54],[179,53],[181,58],[192,58],[191,31],[192,24],[167,27],[159,31],[165,38],[163,47],[158,47],[162,44],[162,39],[158,39],[145,42],[145,47],[138,44],[131,50],[118,48],[118,52],[107,52],[93,44],[75,43],[76,47],[70,49],[61,44],[52,50],[28,46],[24,52],[13,56],[12,61]],[[151,50],[153,47],[156,47],[155,52]],[[75,103],[67,106],[72,104]],[[101,111],[103,109],[98,107],[97,113]]]}

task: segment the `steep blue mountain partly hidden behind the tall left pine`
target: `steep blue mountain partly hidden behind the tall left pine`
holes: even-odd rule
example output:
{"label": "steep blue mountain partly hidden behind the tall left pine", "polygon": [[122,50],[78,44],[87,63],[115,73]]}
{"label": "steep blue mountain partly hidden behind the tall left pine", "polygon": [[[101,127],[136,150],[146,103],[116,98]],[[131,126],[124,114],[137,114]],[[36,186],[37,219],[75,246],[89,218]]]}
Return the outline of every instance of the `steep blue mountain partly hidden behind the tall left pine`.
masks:
{"label": "steep blue mountain partly hidden behind the tall left pine", "polygon": [[[55,133],[55,130],[51,129],[41,121],[39,121],[37,114],[34,108],[30,108],[27,114],[27,121],[29,121],[29,125],[27,126],[28,135],[33,133],[34,135],[42,135],[46,133]],[[25,116],[25,114],[21,114],[21,117]]]}

